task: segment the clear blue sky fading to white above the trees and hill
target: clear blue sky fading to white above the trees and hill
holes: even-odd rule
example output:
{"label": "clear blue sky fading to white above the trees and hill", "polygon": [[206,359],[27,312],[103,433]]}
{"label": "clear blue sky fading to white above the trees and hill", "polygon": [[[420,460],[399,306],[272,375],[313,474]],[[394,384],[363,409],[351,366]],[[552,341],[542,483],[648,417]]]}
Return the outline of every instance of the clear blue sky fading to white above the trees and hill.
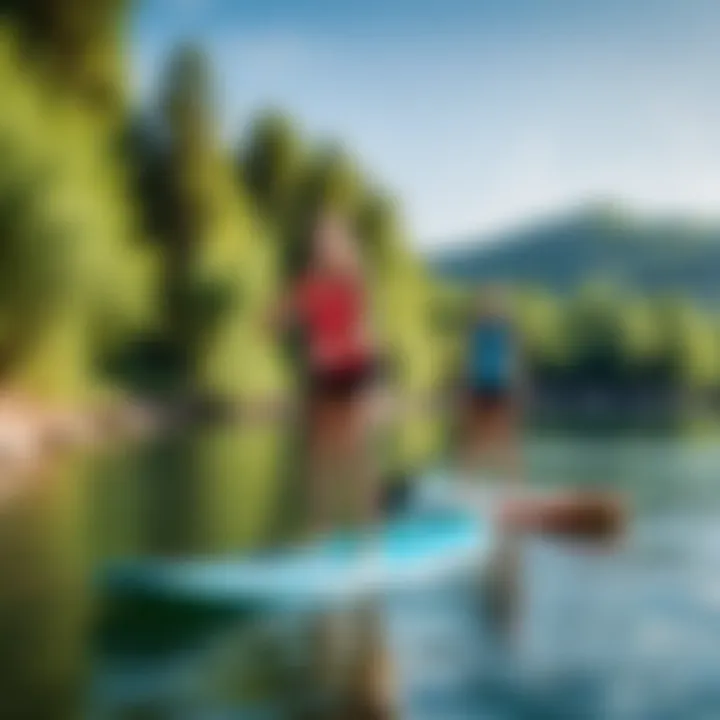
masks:
{"label": "clear blue sky fading to white above the trees and hill", "polygon": [[141,101],[188,39],[229,138],[274,106],[340,139],[418,246],[597,198],[720,217],[718,0],[145,0]]}

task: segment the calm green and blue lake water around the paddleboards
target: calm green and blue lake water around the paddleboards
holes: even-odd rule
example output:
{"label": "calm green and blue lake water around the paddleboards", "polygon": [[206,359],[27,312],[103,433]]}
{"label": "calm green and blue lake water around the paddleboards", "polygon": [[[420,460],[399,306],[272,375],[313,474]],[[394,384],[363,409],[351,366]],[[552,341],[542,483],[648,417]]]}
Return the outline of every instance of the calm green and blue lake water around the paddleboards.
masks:
{"label": "calm green and blue lake water around the paddleboards", "polygon": [[[720,717],[720,445],[545,437],[526,457],[534,485],[625,491],[630,537],[529,543],[511,648],[471,578],[389,600],[401,717]],[[117,559],[276,543],[298,496],[288,458],[272,431],[214,431],[68,462],[7,503],[0,717],[293,718],[296,621],[116,607],[97,583]]]}

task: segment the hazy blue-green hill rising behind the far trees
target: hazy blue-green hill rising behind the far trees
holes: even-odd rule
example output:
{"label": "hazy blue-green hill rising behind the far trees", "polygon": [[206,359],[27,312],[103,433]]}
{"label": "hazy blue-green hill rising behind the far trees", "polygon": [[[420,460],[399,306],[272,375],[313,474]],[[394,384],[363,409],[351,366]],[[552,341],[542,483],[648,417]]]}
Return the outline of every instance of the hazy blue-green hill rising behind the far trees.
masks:
{"label": "hazy blue-green hill rising behind the far trees", "polygon": [[436,253],[431,266],[464,283],[528,282],[558,291],[593,279],[720,301],[720,227],[589,208]]}

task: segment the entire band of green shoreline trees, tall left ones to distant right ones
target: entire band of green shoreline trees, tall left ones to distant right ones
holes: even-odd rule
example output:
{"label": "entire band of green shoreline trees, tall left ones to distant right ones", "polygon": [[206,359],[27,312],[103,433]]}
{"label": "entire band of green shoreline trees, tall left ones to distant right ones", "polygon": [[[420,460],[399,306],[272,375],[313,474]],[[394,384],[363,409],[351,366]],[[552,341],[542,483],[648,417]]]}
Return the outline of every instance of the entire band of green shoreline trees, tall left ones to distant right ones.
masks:
{"label": "entire band of green shoreline trees, tall left ones to distant right ones", "polygon": [[[126,91],[123,0],[0,2],[0,382],[36,395],[287,392],[261,322],[322,209],[356,224],[392,378],[457,372],[467,293],[410,250],[397,202],[342,146],[265,112],[231,142],[202,52],[156,96]],[[716,388],[717,318],[681,297],[513,288],[533,377],[570,387]]]}

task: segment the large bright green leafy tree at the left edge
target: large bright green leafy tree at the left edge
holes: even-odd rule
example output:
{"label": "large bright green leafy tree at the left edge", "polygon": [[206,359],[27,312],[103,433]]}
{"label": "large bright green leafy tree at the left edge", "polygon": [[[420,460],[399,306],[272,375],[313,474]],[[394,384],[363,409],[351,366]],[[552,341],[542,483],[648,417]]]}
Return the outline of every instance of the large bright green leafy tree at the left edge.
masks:
{"label": "large bright green leafy tree at the left edge", "polygon": [[84,393],[108,344],[146,316],[152,261],[104,129],[48,92],[7,30],[0,91],[0,375]]}

